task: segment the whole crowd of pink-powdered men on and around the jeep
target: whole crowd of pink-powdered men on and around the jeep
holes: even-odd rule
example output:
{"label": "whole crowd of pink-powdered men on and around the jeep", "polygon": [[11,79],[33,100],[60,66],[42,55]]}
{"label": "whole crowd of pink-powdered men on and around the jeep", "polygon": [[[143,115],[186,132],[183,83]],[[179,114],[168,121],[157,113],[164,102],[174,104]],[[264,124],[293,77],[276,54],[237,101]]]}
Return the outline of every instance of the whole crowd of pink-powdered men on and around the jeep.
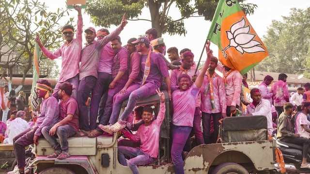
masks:
{"label": "whole crowd of pink-powdered men on and around the jeep", "polygon": [[[277,137],[281,141],[296,141],[288,137],[304,136],[309,140],[307,115],[310,114],[310,102],[304,101],[310,101],[310,83],[305,84],[306,92],[301,87],[297,88],[291,97],[292,103],[287,103],[287,75],[279,74],[271,90],[267,86],[274,79],[267,75],[258,88],[251,89],[253,101],[249,102],[242,90],[248,87],[247,74],[241,75],[237,70],[218,64],[210,42],[206,43],[207,58],[201,70],[198,70],[193,61],[194,54],[188,48],[181,50],[180,54],[176,47],[167,49],[169,61],[164,57],[164,40],[157,37],[158,33],[153,28],[148,29],[145,36],[131,38],[122,46],[119,34],[127,24],[124,15],[121,25],[111,33],[108,29],[97,32],[93,27],[85,29],[87,43],[83,45],[81,9],[75,6],[75,10],[78,12],[76,33],[72,25],[64,25],[61,32],[65,42],[58,50],[49,51],[41,43],[39,35],[35,38],[47,58],[62,57],[62,68],[54,89],[47,80],[37,81],[35,92],[43,101],[31,126],[24,120],[24,92],[19,91],[16,97],[18,91],[11,90],[14,91],[11,94],[8,87],[4,87],[2,96],[6,107],[2,106],[2,121],[5,120],[6,124],[0,122],[0,135],[1,131],[3,133],[0,140],[14,144],[18,166],[16,174],[24,173],[25,146],[38,144],[41,135],[55,149],[47,158],[66,159],[70,157],[67,138],[109,136],[118,131],[131,141],[119,142],[119,162],[138,174],[138,165],[152,163],[158,155],[160,125],[166,110],[161,90],[167,90],[172,103],[171,158],[176,174],[184,174],[182,155],[191,149],[189,138],[195,135],[197,145],[216,143],[219,121],[227,116],[263,115],[267,118],[269,134],[274,134],[274,128],[278,127]],[[223,75],[218,75],[216,70]],[[136,107],[139,99],[155,94],[160,98],[156,116],[151,107]],[[126,99],[128,104],[119,116]],[[8,108],[14,102],[17,112],[12,112],[6,121]],[[299,133],[292,133],[293,127],[288,124],[294,120],[294,108],[300,112],[296,118],[296,131]],[[134,119],[131,118],[133,110]],[[126,126],[136,131],[135,134],[125,131]],[[7,130],[6,133],[3,129]],[[56,137],[60,139],[59,143]],[[300,142],[309,148],[310,140]],[[303,161],[301,166],[310,168],[307,161]]]}

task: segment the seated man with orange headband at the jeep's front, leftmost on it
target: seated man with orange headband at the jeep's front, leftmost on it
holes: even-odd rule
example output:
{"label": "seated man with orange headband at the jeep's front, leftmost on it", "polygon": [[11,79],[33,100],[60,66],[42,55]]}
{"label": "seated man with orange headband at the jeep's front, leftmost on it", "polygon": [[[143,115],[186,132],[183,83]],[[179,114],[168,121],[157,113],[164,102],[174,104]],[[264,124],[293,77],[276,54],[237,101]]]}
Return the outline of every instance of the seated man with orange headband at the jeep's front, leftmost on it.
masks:
{"label": "seated man with orange headband at the jeep's front, leftmost on it", "polygon": [[37,81],[35,92],[38,98],[43,99],[41,103],[41,113],[31,128],[19,133],[13,138],[14,152],[19,174],[24,174],[24,167],[26,166],[25,147],[31,144],[38,145],[38,139],[42,134],[42,128],[58,122],[60,112],[59,105],[55,97],[50,97],[53,92],[53,89],[50,86],[51,85],[47,80]]}

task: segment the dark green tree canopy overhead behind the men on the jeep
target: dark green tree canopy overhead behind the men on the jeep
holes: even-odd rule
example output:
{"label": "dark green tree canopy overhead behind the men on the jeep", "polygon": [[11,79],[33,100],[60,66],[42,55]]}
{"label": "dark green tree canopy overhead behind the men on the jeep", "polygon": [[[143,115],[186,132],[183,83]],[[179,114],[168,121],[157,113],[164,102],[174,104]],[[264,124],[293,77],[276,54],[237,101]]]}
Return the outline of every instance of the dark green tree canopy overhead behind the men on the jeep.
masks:
{"label": "dark green tree canopy overhead behind the men on the jeep", "polygon": [[[164,33],[186,35],[183,20],[189,17],[204,16],[205,20],[211,21],[217,2],[218,0],[89,0],[86,12],[92,16],[91,21],[95,25],[106,28],[119,25],[124,13],[129,20],[150,21],[160,37]],[[173,19],[170,14],[174,6],[181,14],[177,19]],[[253,14],[257,7],[252,3],[241,3],[240,6],[246,14]],[[149,8],[151,20],[139,18],[144,7]]]}

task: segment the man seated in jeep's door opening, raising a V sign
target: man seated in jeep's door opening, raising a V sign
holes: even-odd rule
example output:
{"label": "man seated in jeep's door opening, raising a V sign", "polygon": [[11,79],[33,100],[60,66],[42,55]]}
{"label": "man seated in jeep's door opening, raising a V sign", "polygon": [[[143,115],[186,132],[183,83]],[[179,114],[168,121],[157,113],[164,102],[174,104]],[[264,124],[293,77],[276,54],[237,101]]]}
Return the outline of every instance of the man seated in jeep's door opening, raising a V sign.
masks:
{"label": "man seated in jeep's door opening, raising a V sign", "polygon": [[[153,109],[151,107],[144,107],[142,113],[142,119],[144,125],[141,125],[136,134],[132,134],[128,131],[122,130],[125,137],[128,137],[134,142],[140,142],[140,148],[134,148],[129,146],[118,146],[118,160],[119,162],[131,169],[133,174],[139,174],[137,165],[147,165],[157,158],[158,146],[159,146],[159,132],[160,125],[165,118],[165,95],[160,92],[160,89],[156,89],[156,92],[160,98],[159,112],[154,121]],[[125,156],[130,159],[126,162]]]}

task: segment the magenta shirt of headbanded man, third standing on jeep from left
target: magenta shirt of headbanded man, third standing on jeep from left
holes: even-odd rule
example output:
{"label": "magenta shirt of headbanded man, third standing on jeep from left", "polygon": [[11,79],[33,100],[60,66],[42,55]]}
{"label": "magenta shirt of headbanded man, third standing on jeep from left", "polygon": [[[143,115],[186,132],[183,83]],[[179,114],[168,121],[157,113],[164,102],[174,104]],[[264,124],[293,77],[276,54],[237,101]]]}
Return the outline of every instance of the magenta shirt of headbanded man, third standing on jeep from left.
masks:
{"label": "magenta shirt of headbanded man, third standing on jeep from left", "polygon": [[100,55],[98,72],[112,74],[111,68],[113,64],[115,52],[111,47],[111,43],[107,43],[103,47],[103,50]]}

